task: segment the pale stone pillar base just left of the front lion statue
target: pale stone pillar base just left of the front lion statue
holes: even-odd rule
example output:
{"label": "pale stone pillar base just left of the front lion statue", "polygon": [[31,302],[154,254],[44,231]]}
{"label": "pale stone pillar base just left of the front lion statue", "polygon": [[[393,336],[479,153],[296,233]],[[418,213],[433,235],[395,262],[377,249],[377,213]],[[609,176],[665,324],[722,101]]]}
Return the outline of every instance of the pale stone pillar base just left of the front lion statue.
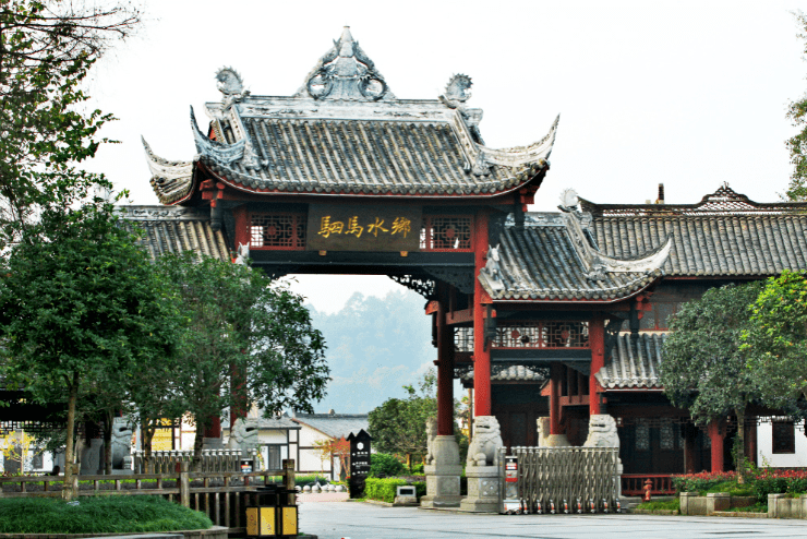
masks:
{"label": "pale stone pillar base just left of the front lion statue", "polygon": [[421,496],[421,507],[457,507],[459,495],[459,446],[453,435],[437,434],[437,420],[426,421],[427,453],[423,471],[426,476],[426,495]]}

